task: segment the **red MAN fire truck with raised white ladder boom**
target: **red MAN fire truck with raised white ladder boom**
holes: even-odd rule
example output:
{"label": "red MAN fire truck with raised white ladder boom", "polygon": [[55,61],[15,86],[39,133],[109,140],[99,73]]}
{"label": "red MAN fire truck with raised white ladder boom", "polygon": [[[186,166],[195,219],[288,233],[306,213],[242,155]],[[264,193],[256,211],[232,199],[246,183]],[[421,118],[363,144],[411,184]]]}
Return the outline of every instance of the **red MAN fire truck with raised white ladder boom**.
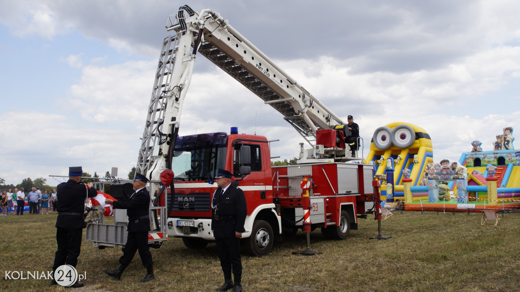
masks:
{"label": "red MAN fire truck with raised white ladder boom", "polygon": [[[348,145],[362,139],[350,137],[339,116],[217,12],[180,7],[168,17],[166,30],[175,35],[163,41],[136,170],[150,179],[149,190],[155,196],[150,243],[160,245],[167,237],[180,237],[189,248],[203,248],[214,241],[211,200],[219,168],[232,172],[232,183],[244,191],[248,210],[242,244],[252,255],[268,254],[283,232],[302,228],[306,212],[302,181],[309,182],[307,205],[313,230],[320,228],[326,238],[344,240],[350,229],[357,229],[358,218],[366,218],[375,195],[373,166],[360,163],[362,155]],[[295,145],[296,165],[271,166],[271,158],[277,158],[270,153],[274,141],[239,134],[235,127],[229,133],[178,135],[198,55],[250,89],[298,131],[310,147]],[[233,104],[227,107],[233,110]],[[161,180],[170,170],[171,184]],[[114,225],[122,222],[119,231],[94,221],[89,224],[94,225],[90,236],[87,227],[87,240],[97,246],[120,246],[114,244],[112,233],[125,236],[124,220],[121,215],[116,218]],[[97,236],[109,233],[110,238]],[[121,236],[118,241],[124,244]]]}

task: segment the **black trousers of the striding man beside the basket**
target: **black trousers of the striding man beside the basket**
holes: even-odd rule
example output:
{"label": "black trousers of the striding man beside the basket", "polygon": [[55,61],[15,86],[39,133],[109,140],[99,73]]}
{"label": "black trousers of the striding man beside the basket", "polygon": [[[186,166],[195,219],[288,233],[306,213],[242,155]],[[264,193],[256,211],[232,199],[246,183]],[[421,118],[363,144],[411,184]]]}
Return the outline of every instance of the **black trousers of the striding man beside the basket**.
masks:
{"label": "black trousers of the striding man beside the basket", "polygon": [[132,262],[137,250],[139,250],[142,265],[145,268],[150,267],[153,261],[150,246],[148,245],[148,231],[128,232],[126,244],[123,247],[123,256],[119,258],[119,263],[123,266],[128,266]]}

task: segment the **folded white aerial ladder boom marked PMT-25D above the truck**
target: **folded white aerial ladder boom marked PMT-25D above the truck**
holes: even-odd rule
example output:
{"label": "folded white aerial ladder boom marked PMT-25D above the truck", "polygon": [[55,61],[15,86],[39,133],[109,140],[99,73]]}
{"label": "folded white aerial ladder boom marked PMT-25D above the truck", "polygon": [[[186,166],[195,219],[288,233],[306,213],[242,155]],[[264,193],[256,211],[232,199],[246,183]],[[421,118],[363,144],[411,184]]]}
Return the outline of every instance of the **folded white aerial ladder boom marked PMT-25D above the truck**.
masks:
{"label": "folded white aerial ladder boom marked PMT-25D above the truck", "polygon": [[[184,12],[187,12],[187,16]],[[180,113],[190,84],[196,55],[200,54],[283,115],[315,147],[316,131],[343,125],[317,98],[285,73],[261,50],[209,9],[199,14],[188,6],[168,17],[137,172],[171,168],[165,160],[175,144]],[[314,151],[314,150],[313,150]],[[301,154],[301,157],[304,156]],[[152,175],[153,176],[153,175]],[[157,179],[150,177],[152,179]]]}

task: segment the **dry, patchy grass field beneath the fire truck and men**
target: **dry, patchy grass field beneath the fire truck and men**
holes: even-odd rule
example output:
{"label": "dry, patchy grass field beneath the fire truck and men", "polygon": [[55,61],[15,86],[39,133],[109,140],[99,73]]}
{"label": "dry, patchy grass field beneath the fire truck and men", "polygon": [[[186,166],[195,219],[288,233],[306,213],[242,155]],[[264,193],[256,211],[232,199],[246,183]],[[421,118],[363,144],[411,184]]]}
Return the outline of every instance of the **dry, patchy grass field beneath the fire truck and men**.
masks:
{"label": "dry, patchy grass field beneath the fire truck and men", "polygon": [[[5,280],[5,271],[49,271],[56,251],[57,215],[0,216],[0,289],[2,291],[64,291],[46,280]],[[481,226],[480,214],[408,211],[383,220],[388,240],[377,235],[373,217],[359,219],[359,230],[347,240],[310,235],[311,248],[323,254],[294,256],[306,247],[305,233],[285,236],[262,258],[242,256],[244,291],[520,291],[520,213],[505,214],[501,225]],[[83,237],[84,238],[84,237]],[[83,242],[77,270],[86,271],[84,288],[74,291],[214,291],[223,283],[214,244],[187,249],[170,238],[151,249],[155,280],[139,256],[122,281],[103,270],[115,269],[121,249],[99,250]]]}

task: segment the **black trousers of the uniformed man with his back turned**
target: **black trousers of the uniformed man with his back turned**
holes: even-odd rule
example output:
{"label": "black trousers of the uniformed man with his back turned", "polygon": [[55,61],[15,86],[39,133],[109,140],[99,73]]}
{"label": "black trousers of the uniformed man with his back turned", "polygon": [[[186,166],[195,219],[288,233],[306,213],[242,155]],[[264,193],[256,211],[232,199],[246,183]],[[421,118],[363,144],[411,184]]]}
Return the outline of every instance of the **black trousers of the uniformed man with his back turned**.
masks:
{"label": "black trousers of the uniformed man with his back turned", "polygon": [[54,256],[53,270],[56,270],[63,264],[70,264],[76,267],[77,257],[81,253],[81,237],[83,229],[56,227],[56,242],[58,250]]}

